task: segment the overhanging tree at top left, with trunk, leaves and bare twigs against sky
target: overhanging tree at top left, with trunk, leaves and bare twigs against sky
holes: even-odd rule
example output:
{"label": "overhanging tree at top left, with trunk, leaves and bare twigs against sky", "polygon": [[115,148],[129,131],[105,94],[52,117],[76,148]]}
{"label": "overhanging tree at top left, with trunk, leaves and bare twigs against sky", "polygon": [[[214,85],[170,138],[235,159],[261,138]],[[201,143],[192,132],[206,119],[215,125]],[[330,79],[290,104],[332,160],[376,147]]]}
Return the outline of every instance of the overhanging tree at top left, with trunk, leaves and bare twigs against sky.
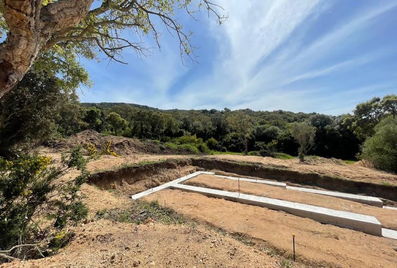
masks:
{"label": "overhanging tree at top left, with trunk, leaves and bare twigs against sky", "polygon": [[[96,4],[100,3],[99,6]],[[0,1],[0,98],[10,91],[36,63],[38,68],[64,77],[69,87],[90,84],[76,56],[98,58],[103,53],[122,61],[122,51],[130,48],[144,56],[151,51],[142,36],[152,36],[160,48],[158,25],[179,39],[181,59],[193,59],[191,32],[179,24],[178,10],[194,18],[206,9],[219,23],[219,6],[201,0],[3,0]]]}

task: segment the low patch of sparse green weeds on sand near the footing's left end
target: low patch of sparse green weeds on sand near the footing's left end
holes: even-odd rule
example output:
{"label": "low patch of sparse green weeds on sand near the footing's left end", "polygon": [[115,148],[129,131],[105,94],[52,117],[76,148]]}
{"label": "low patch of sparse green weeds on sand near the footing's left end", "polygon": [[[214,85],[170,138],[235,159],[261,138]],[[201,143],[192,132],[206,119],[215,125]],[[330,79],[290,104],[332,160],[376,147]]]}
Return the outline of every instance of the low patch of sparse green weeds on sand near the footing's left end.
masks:
{"label": "low patch of sparse green weeds on sand near the footing's left end", "polygon": [[164,208],[157,200],[151,202],[135,201],[127,209],[96,211],[97,219],[108,219],[116,222],[142,224],[148,219],[164,224],[182,224],[187,220],[171,208]]}

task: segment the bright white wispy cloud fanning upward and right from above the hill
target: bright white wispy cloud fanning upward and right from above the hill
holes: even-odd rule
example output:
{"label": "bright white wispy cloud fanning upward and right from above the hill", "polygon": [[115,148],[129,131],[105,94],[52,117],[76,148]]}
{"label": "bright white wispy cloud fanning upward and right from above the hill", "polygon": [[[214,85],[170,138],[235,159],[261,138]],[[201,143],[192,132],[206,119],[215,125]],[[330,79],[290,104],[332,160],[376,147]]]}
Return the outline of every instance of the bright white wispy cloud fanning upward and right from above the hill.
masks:
{"label": "bright white wispy cloud fanning upward and right from above the hill", "polygon": [[[362,10],[300,50],[300,44],[295,41],[301,40],[291,40],[291,34],[307,27],[302,25],[305,19],[311,22],[310,19],[321,16],[320,13],[330,7],[328,1],[246,1],[244,8],[236,1],[223,0],[220,4],[229,12],[229,19],[222,27],[212,25],[211,32],[218,37],[221,56],[213,63],[213,74],[199,77],[185,88],[179,96],[179,101],[183,101],[181,108],[205,107],[205,100],[211,96],[219,100],[218,109],[227,106],[309,112],[307,107],[310,107],[325,111],[327,106],[318,103],[321,95],[328,95],[323,86],[312,84],[305,89],[285,86],[358,68],[383,55],[380,51],[339,62],[327,60],[328,65],[322,63],[325,57],[343,48],[340,44],[348,40],[349,35],[365,29],[372,19],[395,7],[397,2]],[[326,25],[323,28],[326,29]],[[269,56],[274,57],[266,61]],[[178,105],[179,101],[170,105]]]}

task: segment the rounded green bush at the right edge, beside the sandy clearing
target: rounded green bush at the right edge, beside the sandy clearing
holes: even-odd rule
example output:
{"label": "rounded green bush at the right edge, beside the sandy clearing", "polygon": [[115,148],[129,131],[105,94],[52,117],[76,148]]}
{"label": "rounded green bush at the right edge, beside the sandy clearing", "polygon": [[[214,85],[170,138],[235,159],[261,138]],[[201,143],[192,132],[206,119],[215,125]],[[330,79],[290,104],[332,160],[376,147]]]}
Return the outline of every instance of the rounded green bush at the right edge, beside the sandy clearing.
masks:
{"label": "rounded green bush at the right edge, beside the sandy clearing", "polygon": [[360,159],[370,161],[378,169],[397,172],[397,118],[383,118],[361,149]]}

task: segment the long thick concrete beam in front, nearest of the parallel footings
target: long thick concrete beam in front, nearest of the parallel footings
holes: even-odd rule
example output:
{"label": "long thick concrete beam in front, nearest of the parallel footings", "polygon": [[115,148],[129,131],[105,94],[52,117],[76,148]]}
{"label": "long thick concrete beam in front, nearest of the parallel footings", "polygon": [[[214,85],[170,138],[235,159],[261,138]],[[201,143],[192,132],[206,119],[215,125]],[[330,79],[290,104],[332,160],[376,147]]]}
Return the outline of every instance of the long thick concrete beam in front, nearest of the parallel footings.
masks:
{"label": "long thick concrete beam in front, nearest of the parallel footings", "polygon": [[256,205],[271,210],[286,211],[288,213],[313,219],[315,221],[332,224],[343,228],[362,231],[368,234],[382,236],[382,225],[377,218],[346,211],[336,211],[311,205],[293,203],[284,200],[262,196],[208,189],[190,185],[172,184],[171,189],[200,193],[209,197],[223,198],[248,205]]}

